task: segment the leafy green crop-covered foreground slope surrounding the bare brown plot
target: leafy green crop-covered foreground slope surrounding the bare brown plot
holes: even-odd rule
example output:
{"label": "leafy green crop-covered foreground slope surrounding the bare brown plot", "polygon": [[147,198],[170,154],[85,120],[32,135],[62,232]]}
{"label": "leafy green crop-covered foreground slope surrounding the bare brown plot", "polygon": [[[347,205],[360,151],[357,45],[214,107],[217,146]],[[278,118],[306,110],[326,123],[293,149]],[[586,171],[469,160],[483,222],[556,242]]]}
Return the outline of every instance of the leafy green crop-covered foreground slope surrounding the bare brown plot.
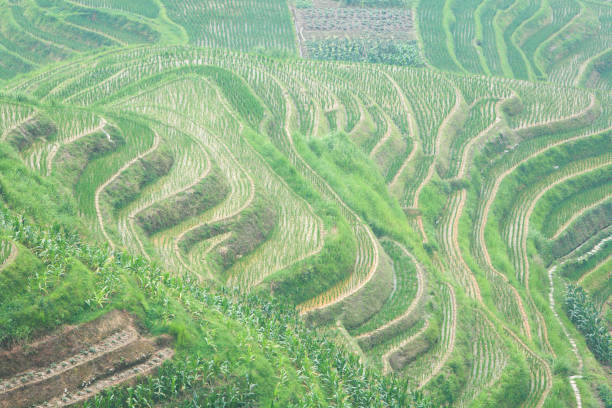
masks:
{"label": "leafy green crop-covered foreground slope surrounding the bare brown plot", "polygon": [[[3,158],[3,162],[11,160],[14,159],[10,153]],[[24,183],[35,178],[22,165],[13,167],[21,170]],[[3,173],[3,177],[11,175]],[[40,191],[51,189],[52,185],[44,184]],[[8,198],[5,204],[17,205],[19,201],[11,198],[19,197],[18,188],[7,188],[3,197]],[[43,218],[34,219],[50,222],[54,220],[56,211],[70,213],[68,209],[53,206],[57,206],[58,199],[64,197],[48,200],[46,204],[52,205],[53,210],[44,213]],[[40,208],[45,203],[29,204]],[[127,407],[169,400],[181,404],[193,403],[194,400],[213,403],[232,397],[239,397],[236,403],[241,405],[252,402],[312,406],[326,403],[325,395],[331,398],[337,395],[333,389],[337,392],[340,388],[336,387],[343,387],[322,381],[321,385],[311,383],[312,393],[304,393],[298,386],[297,381],[301,380],[291,368],[290,360],[302,367],[314,364],[312,369],[317,371],[317,375],[333,378],[340,375],[342,383],[348,386],[341,392],[357,405],[366,403],[372,395],[377,395],[376,398],[385,395],[388,406],[406,406],[412,400],[405,393],[405,385],[398,380],[389,382],[370,371],[366,371],[363,377],[359,374],[363,367],[357,359],[305,329],[295,312],[286,306],[271,303],[261,296],[210,292],[189,284],[188,280],[171,276],[142,258],[85,244],[77,236],[65,233],[65,226],[61,224],[55,224],[53,230],[45,230],[12,215],[12,211],[5,207],[0,211],[3,234],[20,242],[20,253],[23,254],[14,264],[14,269],[3,271],[2,284],[9,290],[3,291],[6,296],[0,300],[3,344],[23,342],[63,322],[90,319],[92,315],[113,308],[132,311],[143,318],[150,330],[177,336],[179,355],[174,362],[165,365],[158,376],[136,389],[111,389],[94,398],[89,403],[91,406]],[[36,214],[35,211],[31,213]],[[45,285],[35,285],[41,282],[43,273],[50,279],[45,281]],[[78,282],[74,281],[76,277]],[[88,279],[83,279],[85,277]],[[7,284],[9,279],[12,283]],[[178,293],[182,293],[182,300],[176,297]],[[245,344],[241,342],[257,343],[246,334],[245,327],[263,330],[269,339],[256,347],[249,346],[254,354],[247,360],[237,358],[239,355],[235,352],[232,354],[232,349],[238,350],[239,344]],[[308,336],[313,336],[309,343],[305,342]],[[283,346],[287,351],[293,351],[288,354],[279,352],[272,343],[293,344]],[[263,350],[272,354],[264,357]],[[317,354],[310,355],[312,352]],[[210,353],[216,357],[211,359]],[[207,355],[206,362],[200,355]],[[273,369],[269,365],[268,358],[272,355],[277,363],[284,361],[281,367],[277,365]],[[301,359],[303,363],[300,363]],[[266,379],[268,375],[274,377],[275,372],[284,374],[278,380]],[[307,381],[318,383],[312,373],[306,375]],[[272,387],[266,384],[268,381],[272,381],[272,384],[268,383]],[[323,386],[324,382],[328,385]],[[255,388],[254,384],[260,386]],[[368,391],[374,384],[380,389]]]}

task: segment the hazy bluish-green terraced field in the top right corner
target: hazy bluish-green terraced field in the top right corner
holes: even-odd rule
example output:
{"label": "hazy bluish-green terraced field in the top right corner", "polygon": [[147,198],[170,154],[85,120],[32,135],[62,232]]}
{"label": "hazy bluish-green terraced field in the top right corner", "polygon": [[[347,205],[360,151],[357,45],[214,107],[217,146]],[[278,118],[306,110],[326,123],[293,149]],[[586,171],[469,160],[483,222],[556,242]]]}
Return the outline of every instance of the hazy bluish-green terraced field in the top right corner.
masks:
{"label": "hazy bluish-green terraced field in the top right corner", "polygon": [[575,0],[440,0],[418,2],[415,19],[437,68],[571,86],[605,77],[593,68],[611,45],[610,12]]}

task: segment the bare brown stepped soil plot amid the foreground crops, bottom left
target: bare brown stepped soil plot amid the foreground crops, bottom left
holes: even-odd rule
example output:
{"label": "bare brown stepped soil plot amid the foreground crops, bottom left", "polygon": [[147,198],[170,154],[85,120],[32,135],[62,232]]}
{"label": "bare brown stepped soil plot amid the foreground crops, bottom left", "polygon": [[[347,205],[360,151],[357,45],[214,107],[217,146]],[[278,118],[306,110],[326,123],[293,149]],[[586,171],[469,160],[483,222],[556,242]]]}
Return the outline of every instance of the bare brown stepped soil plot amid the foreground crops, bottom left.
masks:
{"label": "bare brown stepped soil plot amid the foreground crops, bottom left", "polygon": [[151,374],[174,352],[167,337],[146,338],[113,311],[0,353],[0,407],[72,406],[105,388]]}

